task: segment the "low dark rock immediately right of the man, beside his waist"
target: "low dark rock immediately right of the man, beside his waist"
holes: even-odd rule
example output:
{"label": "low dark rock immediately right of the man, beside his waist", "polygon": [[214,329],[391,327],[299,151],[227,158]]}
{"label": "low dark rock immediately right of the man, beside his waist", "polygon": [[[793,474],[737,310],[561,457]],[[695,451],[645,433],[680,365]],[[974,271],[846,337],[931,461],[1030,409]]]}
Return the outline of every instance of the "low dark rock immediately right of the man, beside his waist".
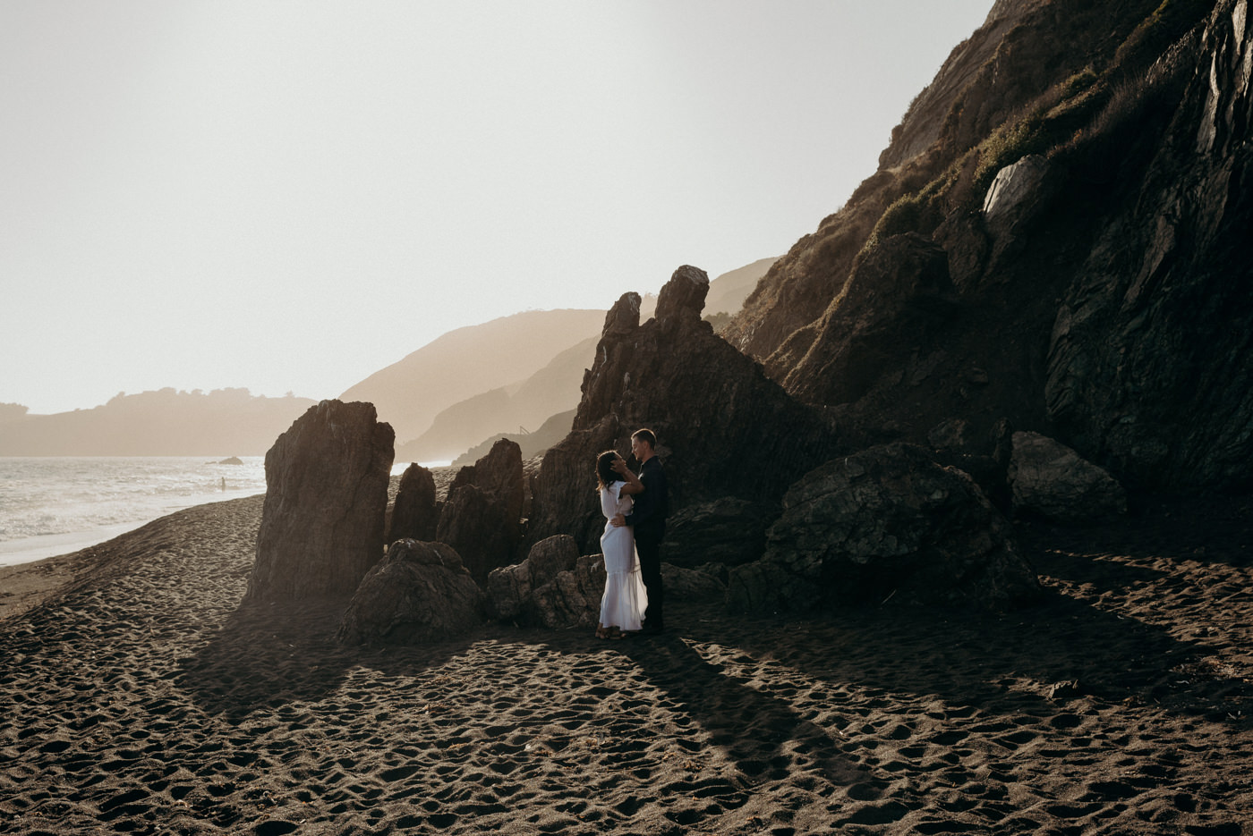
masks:
{"label": "low dark rock immediately right of the man, beside his waist", "polygon": [[695,568],[759,559],[766,551],[766,529],[778,512],[777,506],[734,497],[688,506],[667,522],[662,561]]}

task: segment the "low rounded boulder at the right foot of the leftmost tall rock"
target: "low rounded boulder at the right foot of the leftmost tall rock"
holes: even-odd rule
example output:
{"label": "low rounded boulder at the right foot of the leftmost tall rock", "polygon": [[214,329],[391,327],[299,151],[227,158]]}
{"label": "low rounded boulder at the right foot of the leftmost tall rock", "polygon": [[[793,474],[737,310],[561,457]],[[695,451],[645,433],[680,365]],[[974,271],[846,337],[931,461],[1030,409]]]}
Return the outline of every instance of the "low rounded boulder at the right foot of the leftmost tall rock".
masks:
{"label": "low rounded boulder at the right foot of the leftmost tall rock", "polygon": [[482,603],[450,546],[401,539],[357,587],[336,638],[363,645],[462,636],[484,622]]}

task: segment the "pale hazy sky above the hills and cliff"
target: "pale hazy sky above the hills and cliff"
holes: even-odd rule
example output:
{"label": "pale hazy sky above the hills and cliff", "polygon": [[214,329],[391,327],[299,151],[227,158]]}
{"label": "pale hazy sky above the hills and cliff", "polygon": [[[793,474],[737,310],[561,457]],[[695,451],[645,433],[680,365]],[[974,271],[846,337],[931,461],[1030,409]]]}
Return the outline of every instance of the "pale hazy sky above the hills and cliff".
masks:
{"label": "pale hazy sky above the hills and cliff", "polygon": [[0,403],[336,397],[781,255],[991,0],[0,0]]}

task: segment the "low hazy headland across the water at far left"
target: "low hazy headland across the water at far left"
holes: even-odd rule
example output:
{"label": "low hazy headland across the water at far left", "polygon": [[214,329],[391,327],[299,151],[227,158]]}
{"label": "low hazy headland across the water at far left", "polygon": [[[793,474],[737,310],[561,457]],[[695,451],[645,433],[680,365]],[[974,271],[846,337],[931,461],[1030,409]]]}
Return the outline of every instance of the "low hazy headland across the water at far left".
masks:
{"label": "low hazy headland across the water at far left", "polygon": [[247,389],[118,394],[94,409],[0,424],[0,456],[264,456],[315,404]]}

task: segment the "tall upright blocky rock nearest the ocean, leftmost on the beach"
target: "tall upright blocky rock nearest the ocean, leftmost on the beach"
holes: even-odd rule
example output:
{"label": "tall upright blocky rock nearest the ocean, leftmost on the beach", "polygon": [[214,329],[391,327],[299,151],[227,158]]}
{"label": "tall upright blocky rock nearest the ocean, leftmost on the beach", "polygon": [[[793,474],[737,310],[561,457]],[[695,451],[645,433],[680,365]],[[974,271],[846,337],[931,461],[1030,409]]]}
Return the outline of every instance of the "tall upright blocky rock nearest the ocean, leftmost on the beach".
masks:
{"label": "tall upright blocky rock nearest the ocean, leftmost on the beach", "polygon": [[383,554],[395,433],[368,403],[323,400],[266,453],[248,598],[352,594]]}

